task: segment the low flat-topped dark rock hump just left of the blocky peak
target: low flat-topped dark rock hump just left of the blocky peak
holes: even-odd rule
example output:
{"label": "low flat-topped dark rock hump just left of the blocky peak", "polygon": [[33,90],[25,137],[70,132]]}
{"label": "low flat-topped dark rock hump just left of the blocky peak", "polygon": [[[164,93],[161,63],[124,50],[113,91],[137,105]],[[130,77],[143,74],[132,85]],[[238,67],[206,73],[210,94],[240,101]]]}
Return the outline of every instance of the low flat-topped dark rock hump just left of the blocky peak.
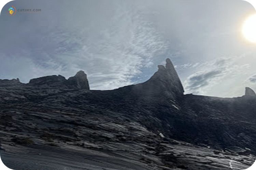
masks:
{"label": "low flat-topped dark rock hump just left of the blocky peak", "polygon": [[45,77],[31,79],[29,81],[29,84],[30,85],[49,85],[49,86],[53,86],[53,85],[62,85],[66,81],[67,80],[62,75],[49,75],[49,76],[45,76]]}

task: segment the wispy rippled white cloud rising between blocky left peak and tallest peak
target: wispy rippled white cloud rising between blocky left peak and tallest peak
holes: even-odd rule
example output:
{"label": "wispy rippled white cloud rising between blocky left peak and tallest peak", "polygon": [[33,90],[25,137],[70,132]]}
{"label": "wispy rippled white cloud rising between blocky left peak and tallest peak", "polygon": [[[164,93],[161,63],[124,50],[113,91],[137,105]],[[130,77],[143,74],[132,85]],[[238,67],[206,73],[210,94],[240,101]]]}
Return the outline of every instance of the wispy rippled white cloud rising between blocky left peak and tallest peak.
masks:
{"label": "wispy rippled white cloud rising between blocky left peak and tallest peak", "polygon": [[[113,89],[132,84],[131,79],[143,67],[152,66],[152,58],[165,53],[166,45],[151,23],[138,11],[121,6],[111,18],[111,27],[88,37],[76,60],[86,61],[85,68],[92,89]],[[98,33],[96,33],[98,34]]]}

